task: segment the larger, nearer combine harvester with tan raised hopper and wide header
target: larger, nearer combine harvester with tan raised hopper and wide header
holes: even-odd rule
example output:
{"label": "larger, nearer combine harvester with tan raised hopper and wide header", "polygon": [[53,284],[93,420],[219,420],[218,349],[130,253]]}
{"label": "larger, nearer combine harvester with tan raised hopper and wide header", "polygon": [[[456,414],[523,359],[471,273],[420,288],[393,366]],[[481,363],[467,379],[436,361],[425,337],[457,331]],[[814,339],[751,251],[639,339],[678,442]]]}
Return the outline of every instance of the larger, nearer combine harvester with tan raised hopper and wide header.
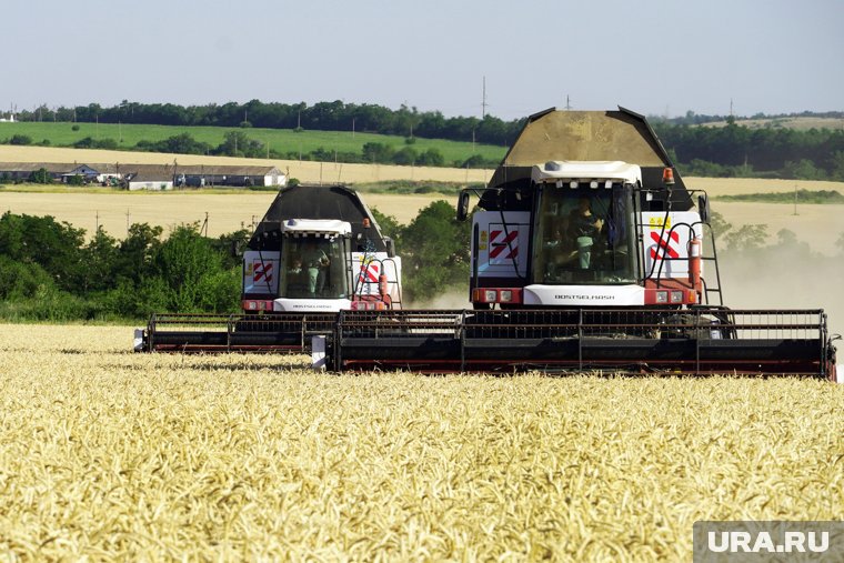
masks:
{"label": "larger, nearer combine harvester with tan raised hopper and wide header", "polygon": [[823,311],[724,306],[706,194],[686,189],[642,115],[532,115],[478,195],[474,310],[341,312],[333,369],[834,380]]}

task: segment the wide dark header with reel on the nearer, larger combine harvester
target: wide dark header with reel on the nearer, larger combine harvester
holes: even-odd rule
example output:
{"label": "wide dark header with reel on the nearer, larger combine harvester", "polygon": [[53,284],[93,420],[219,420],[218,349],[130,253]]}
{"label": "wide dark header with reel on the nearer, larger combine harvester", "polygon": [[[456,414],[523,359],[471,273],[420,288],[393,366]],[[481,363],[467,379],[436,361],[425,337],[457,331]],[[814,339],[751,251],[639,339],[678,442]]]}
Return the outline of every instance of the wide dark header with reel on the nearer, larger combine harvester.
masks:
{"label": "wide dark header with reel on the nearer, larger combine harvester", "polygon": [[343,311],[334,369],[792,373],[825,376],[820,310]]}

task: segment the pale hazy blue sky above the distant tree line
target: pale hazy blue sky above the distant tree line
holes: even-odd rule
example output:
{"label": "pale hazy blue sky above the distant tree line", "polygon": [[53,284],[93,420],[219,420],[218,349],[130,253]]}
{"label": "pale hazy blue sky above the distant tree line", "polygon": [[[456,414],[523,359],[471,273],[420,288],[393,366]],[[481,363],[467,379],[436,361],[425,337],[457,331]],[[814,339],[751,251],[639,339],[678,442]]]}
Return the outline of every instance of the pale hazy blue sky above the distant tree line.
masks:
{"label": "pale hazy blue sky above the distant tree line", "polygon": [[343,100],[515,119],[844,110],[844,1],[9,0],[0,111]]}

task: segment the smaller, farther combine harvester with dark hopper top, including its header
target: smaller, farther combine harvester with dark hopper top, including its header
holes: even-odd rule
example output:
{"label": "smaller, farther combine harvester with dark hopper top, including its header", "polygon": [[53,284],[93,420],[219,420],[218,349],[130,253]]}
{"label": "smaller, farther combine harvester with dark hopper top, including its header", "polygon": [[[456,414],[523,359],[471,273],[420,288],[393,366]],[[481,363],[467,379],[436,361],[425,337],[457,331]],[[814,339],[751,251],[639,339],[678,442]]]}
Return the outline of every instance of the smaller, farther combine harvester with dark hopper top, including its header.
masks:
{"label": "smaller, farther combine harvester with dark hopper top, including its header", "polygon": [[401,308],[401,259],[361,197],[282,189],[243,252],[240,314],[153,314],[137,351],[302,352],[341,310]]}

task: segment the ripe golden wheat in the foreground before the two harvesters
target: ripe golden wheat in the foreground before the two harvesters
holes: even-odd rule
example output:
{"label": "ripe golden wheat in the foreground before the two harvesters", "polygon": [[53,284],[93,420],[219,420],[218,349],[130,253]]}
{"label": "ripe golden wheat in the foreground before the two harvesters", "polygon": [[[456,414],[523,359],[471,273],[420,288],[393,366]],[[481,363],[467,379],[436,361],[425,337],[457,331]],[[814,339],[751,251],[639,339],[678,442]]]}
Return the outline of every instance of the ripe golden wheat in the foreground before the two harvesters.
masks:
{"label": "ripe golden wheat in the foreground before the two harvesters", "polygon": [[680,561],[844,510],[844,386],[332,375],[0,325],[0,559]]}

